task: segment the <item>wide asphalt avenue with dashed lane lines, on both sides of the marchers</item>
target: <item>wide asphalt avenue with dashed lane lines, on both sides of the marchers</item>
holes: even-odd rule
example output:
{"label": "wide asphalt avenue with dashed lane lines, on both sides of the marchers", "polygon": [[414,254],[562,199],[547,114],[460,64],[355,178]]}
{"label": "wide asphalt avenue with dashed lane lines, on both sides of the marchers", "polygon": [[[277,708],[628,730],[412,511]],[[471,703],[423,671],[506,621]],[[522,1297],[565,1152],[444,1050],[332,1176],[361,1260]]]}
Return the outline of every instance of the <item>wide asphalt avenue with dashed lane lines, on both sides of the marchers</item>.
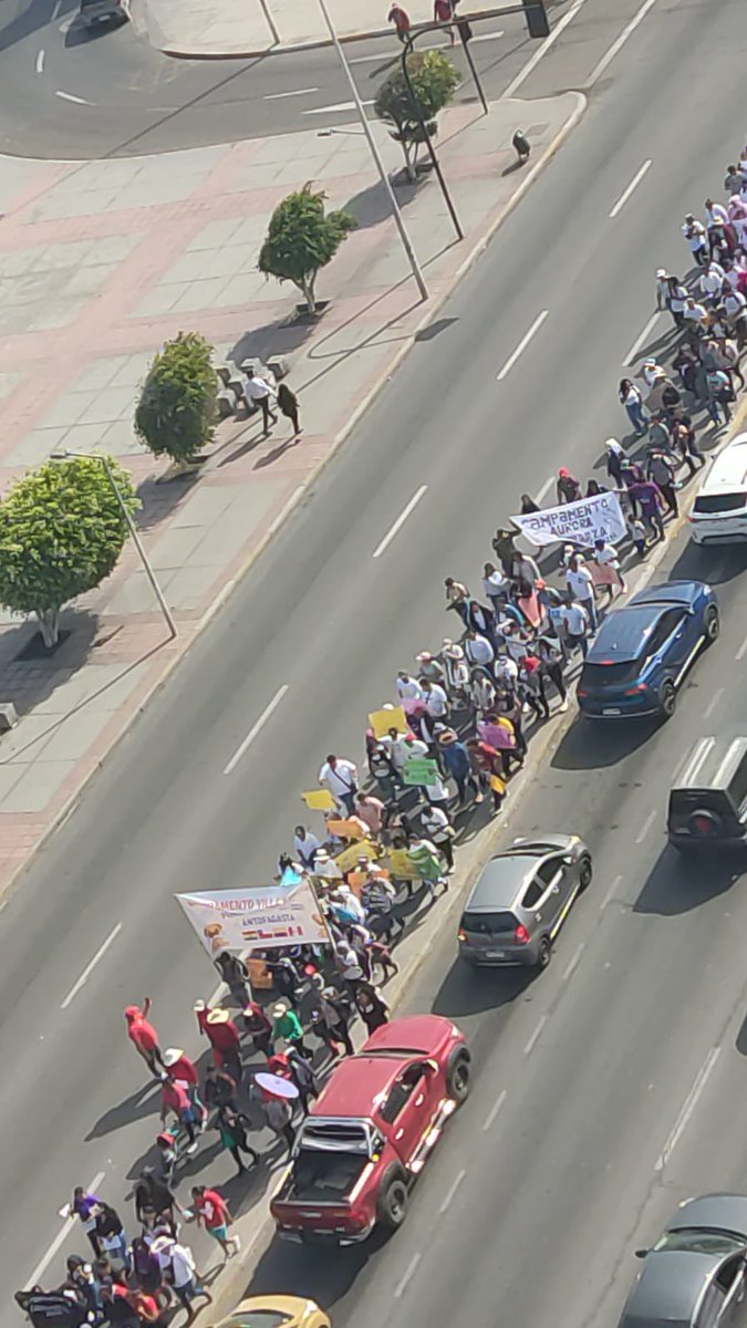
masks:
{"label": "wide asphalt avenue with dashed lane lines, on both sides of the marchers", "polygon": [[[658,0],[432,335],[0,914],[7,1292],[43,1259],[72,1185],[104,1174],[121,1202],[154,1135],[122,1007],[150,993],[163,1041],[197,1050],[191,1004],[214,975],[174,891],[267,879],[300,814],[295,790],[328,750],[359,753],[364,714],[391,695],[396,668],[448,633],[443,578],[475,582],[516,497],[546,493],[558,465],[590,474],[602,440],[622,432],[621,364],[667,332],[662,316],[642,337],[654,271],[682,270],[679,219],[720,190],[742,145],[746,39],[739,3]],[[574,725],[506,827],[509,839],[574,829],[595,854],[552,968],[526,987],[464,975],[445,935],[413,985],[413,1007],[435,1003],[464,1024],[479,1076],[408,1224],[380,1252],[308,1266],[271,1251],[258,1270],[258,1284],[318,1295],[336,1325],[457,1315],[492,1325],[512,1313],[533,1328],[614,1324],[631,1250],[669,1208],[686,1193],[747,1185],[734,1110],[747,904],[739,880],[683,869],[662,839],[669,781],[690,745],[747,721],[744,560],[682,544],[671,559],[718,583],[723,606],[722,639],[674,721]],[[229,1169],[210,1161],[205,1174]],[[17,1321],[12,1307],[3,1321]]]}

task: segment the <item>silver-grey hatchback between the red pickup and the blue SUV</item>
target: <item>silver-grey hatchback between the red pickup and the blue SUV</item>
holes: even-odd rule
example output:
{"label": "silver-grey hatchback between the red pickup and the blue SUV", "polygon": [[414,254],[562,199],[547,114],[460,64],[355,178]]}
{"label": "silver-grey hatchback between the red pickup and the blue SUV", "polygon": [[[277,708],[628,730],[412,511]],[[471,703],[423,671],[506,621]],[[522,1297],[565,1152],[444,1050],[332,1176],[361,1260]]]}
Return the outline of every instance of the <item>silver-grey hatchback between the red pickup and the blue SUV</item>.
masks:
{"label": "silver-grey hatchback between the red pickup and the blue SUV", "polygon": [[459,952],[477,967],[546,968],[553,940],[591,880],[578,835],[520,841],[482,869],[459,926]]}

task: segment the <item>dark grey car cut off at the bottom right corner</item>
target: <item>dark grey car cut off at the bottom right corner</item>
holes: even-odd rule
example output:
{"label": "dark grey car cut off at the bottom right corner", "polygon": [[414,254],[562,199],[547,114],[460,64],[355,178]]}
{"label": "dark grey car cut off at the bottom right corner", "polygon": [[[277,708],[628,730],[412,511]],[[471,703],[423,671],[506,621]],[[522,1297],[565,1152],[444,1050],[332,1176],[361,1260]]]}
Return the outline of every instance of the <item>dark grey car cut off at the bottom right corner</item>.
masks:
{"label": "dark grey car cut off at the bottom right corner", "polygon": [[619,1328],[747,1328],[747,1198],[681,1203],[651,1250]]}

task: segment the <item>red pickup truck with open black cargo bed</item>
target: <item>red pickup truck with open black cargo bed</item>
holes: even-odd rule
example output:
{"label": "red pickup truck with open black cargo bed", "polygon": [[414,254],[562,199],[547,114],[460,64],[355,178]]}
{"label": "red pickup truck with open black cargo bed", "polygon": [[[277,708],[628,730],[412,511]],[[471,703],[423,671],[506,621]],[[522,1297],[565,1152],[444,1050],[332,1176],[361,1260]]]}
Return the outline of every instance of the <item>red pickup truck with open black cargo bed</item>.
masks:
{"label": "red pickup truck with open black cargo bed", "polygon": [[397,1019],[332,1070],[270,1203],[280,1236],[351,1244],[396,1231],[444,1121],[469,1092],[464,1035],[439,1015]]}

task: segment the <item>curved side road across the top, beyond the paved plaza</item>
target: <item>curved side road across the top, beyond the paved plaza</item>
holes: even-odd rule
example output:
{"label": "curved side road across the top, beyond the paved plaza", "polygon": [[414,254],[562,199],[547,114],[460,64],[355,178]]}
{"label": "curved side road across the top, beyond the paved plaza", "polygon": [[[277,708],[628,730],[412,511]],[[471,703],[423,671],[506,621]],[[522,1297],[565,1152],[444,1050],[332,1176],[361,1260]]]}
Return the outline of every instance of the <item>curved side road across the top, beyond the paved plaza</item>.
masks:
{"label": "curved side road across the top, beyond the paved plaza", "polygon": [[[576,86],[573,78],[593,69],[638,4],[585,0],[524,93],[544,96],[568,86],[569,72]],[[557,21],[564,12],[568,4],[560,0]],[[181,61],[154,50],[140,24],[89,33],[76,13],[74,0],[3,0],[1,151],[65,159],[138,155],[322,129],[351,118],[350,89],[328,48],[241,61]],[[486,94],[497,97],[538,42],[526,36],[518,16],[500,27],[486,21],[476,36],[476,64]],[[348,46],[364,101],[375,97],[397,53],[392,37]],[[460,52],[455,58],[464,68]],[[469,82],[460,96],[475,96]]]}

